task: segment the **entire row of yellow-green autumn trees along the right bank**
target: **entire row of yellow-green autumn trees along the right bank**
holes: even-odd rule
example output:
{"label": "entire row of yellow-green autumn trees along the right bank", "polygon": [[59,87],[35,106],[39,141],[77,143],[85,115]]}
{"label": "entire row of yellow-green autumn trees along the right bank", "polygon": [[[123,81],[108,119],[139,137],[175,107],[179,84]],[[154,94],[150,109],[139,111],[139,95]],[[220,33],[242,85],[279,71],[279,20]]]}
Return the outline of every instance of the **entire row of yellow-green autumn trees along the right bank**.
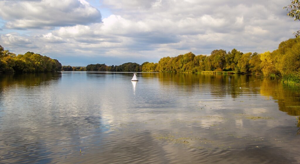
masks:
{"label": "entire row of yellow-green autumn trees along the right bank", "polygon": [[300,38],[283,41],[273,52],[243,53],[236,49],[227,52],[213,50],[211,55],[188,52],[176,57],[161,58],[158,63],[145,62],[143,72],[233,71],[279,76],[283,82],[300,84]]}

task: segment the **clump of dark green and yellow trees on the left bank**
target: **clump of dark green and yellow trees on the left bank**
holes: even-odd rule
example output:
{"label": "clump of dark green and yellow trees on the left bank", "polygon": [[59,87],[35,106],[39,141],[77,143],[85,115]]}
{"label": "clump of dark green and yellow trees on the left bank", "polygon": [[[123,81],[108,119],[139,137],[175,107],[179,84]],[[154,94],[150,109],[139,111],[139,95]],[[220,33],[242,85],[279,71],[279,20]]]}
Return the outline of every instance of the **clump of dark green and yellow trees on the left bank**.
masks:
{"label": "clump of dark green and yellow trees on the left bank", "polygon": [[0,72],[53,72],[60,70],[61,63],[56,59],[34,52],[16,55],[4,50],[0,45]]}

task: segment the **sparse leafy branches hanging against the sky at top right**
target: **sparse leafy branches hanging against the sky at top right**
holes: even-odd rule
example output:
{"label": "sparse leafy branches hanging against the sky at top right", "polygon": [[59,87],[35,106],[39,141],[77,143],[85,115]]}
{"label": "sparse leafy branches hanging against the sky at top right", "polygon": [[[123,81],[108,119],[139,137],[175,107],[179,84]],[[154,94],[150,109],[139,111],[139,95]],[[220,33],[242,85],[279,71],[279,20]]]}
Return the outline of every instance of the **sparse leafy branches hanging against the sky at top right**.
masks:
{"label": "sparse leafy branches hanging against the sky at top right", "polygon": [[[283,7],[283,9],[286,8],[286,11],[290,10],[287,13],[287,16],[290,18],[294,18],[294,20],[300,20],[300,1],[299,0],[291,0],[291,4],[288,6]],[[295,37],[300,37],[300,30],[293,33]]]}

